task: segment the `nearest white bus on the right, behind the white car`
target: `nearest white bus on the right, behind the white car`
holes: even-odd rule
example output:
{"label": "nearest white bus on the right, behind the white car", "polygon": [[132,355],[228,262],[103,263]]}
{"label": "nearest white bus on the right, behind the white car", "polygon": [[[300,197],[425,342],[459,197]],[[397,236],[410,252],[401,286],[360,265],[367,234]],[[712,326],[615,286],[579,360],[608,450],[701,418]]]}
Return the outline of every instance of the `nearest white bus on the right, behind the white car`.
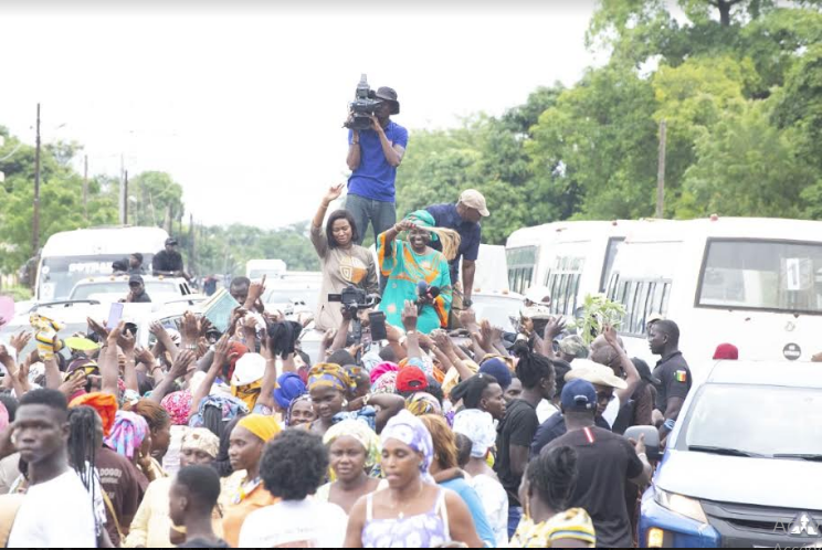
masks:
{"label": "nearest white bus on the right, behind the white car", "polygon": [[635,231],[620,247],[608,296],[628,316],[631,356],[654,364],[646,324],[676,321],[692,364],[719,343],[740,359],[803,360],[822,351],[822,222],[713,218]]}

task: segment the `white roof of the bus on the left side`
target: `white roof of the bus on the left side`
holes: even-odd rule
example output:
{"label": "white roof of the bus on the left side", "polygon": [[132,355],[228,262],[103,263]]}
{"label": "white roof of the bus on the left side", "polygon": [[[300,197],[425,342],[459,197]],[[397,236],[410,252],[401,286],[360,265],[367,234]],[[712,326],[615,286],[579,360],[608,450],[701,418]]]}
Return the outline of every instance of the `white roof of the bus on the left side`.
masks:
{"label": "white roof of the bus on the left side", "polygon": [[43,246],[43,257],[95,254],[156,253],[166,246],[168,233],[159,228],[92,228],[55,233]]}

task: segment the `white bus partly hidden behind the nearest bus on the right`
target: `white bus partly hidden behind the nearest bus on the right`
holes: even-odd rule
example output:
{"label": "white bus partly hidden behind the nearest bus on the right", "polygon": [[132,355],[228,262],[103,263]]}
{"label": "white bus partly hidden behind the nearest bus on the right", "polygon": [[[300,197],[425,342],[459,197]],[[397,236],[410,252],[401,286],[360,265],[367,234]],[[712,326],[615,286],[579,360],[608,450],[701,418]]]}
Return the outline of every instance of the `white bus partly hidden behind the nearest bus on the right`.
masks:
{"label": "white bus partly hidden behind the nearest bus on the right", "polygon": [[632,232],[671,222],[556,222],[514,232],[506,245],[510,289],[550,289],[551,313],[572,317],[589,294],[603,293],[621,244]]}

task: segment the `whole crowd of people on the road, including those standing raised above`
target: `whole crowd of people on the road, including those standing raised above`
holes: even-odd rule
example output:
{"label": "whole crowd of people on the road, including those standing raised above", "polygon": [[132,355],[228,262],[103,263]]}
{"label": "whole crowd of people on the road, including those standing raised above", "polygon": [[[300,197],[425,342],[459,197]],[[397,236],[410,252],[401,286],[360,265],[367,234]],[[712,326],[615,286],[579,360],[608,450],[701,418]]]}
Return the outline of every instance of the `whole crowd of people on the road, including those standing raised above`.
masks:
{"label": "whole crowd of people on the road, including those standing raised above", "polygon": [[[317,357],[247,279],[222,332],[187,313],[144,349],[124,324],[63,335],[40,318],[0,346],[0,546],[633,546],[652,465],[622,434],[675,425],[692,383],[677,326],[650,324],[652,373],[613,328],[590,345],[560,319],[535,330],[544,292],[516,331],[477,319],[485,199],[398,223],[408,133],[390,120],[396,92],[377,96],[373,128],[349,133],[347,209],[328,213],[333,187],[312,224]],[[154,272],[179,276],[167,245]],[[136,256],[129,302],[145,295]],[[381,296],[384,338],[367,305],[328,299],[351,289]]]}

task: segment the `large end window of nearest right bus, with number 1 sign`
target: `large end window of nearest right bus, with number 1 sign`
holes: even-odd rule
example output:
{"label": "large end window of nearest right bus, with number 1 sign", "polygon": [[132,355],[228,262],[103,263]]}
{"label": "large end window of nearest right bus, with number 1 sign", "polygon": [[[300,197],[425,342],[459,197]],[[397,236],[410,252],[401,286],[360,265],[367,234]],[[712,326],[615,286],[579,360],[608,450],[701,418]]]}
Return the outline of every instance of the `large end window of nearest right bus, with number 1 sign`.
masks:
{"label": "large end window of nearest right bus, with number 1 sign", "polygon": [[714,240],[699,306],[822,314],[822,244]]}

